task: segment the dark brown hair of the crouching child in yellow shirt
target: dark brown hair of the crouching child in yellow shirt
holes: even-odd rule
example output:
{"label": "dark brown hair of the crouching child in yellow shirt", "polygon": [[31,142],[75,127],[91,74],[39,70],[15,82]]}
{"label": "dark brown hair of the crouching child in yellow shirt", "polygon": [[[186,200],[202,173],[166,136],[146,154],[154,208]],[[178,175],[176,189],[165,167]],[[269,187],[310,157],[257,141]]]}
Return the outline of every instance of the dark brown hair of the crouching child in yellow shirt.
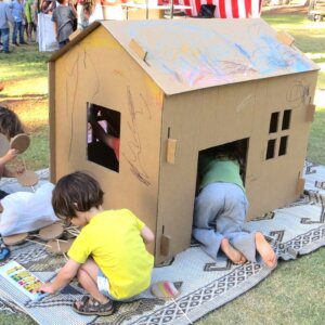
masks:
{"label": "dark brown hair of the crouching child in yellow shirt", "polygon": [[52,206],[61,219],[77,217],[103,204],[104,192],[100,183],[87,172],[76,171],[58,180],[53,190]]}

